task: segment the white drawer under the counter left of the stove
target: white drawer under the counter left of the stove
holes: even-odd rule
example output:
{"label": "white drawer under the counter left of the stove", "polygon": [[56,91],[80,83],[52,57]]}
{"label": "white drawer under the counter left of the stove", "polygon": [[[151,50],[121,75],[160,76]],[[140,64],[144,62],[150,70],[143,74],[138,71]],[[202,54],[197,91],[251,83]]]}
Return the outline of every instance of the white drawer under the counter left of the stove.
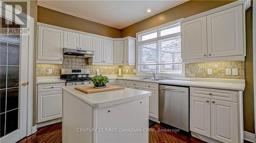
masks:
{"label": "white drawer under the counter left of the stove", "polygon": [[62,86],[65,86],[65,83],[38,84],[37,92],[58,91],[62,90]]}

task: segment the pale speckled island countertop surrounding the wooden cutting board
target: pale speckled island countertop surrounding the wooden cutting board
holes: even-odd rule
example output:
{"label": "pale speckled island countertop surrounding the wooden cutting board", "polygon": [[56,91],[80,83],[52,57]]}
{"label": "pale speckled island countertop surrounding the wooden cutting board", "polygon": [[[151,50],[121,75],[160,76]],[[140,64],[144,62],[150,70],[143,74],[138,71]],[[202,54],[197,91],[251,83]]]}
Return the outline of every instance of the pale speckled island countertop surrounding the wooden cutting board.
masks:
{"label": "pale speckled island countertop surrounding the wooden cutting board", "polygon": [[125,88],[123,90],[115,90],[109,92],[85,94],[75,90],[75,87],[82,87],[81,85],[63,86],[63,91],[68,92],[84,103],[93,108],[102,108],[112,106],[120,103],[134,101],[147,96],[151,96],[151,92]]}

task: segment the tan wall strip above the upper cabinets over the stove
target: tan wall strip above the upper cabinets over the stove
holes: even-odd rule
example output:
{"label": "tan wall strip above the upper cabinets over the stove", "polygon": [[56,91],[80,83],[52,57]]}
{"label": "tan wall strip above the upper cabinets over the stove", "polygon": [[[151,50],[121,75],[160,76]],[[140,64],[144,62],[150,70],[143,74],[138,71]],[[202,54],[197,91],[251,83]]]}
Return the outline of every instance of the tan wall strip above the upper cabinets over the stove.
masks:
{"label": "tan wall strip above the upper cabinets over the stove", "polygon": [[121,37],[121,31],[117,28],[113,28],[110,26],[106,26],[100,23],[96,23],[65,13],[57,12],[40,6],[38,6],[37,11],[38,22],[112,38]]}

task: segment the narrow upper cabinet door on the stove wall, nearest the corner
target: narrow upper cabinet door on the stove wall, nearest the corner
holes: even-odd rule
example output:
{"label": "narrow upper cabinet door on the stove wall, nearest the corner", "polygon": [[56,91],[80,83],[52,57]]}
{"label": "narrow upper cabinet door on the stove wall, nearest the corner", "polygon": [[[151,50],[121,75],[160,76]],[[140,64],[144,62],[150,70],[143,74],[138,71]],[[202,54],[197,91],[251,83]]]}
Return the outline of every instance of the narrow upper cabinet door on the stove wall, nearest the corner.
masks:
{"label": "narrow upper cabinet door on the stove wall, nearest the corner", "polygon": [[114,64],[123,65],[123,40],[114,41]]}

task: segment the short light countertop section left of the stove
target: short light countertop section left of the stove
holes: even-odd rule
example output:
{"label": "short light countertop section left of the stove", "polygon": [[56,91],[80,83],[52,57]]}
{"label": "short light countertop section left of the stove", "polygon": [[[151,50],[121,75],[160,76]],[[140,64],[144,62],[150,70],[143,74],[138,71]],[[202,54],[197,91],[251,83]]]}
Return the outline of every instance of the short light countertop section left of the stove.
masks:
{"label": "short light countertop section left of the stove", "polygon": [[59,76],[46,76],[37,77],[36,84],[47,84],[47,83],[65,83],[65,80],[60,79]]}

